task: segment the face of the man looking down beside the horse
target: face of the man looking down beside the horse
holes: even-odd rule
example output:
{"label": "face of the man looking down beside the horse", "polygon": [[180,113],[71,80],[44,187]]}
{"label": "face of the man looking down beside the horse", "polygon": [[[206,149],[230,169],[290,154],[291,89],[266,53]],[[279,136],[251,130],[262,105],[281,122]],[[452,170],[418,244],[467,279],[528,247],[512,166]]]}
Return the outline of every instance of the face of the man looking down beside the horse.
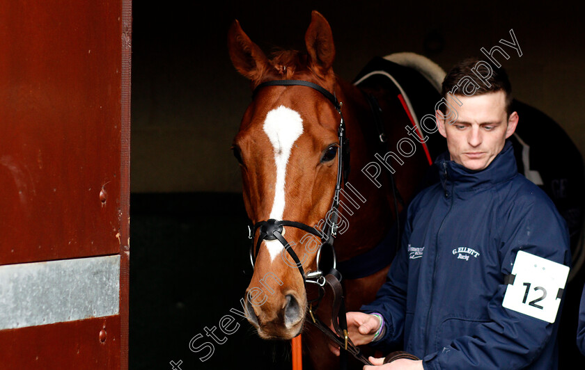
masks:
{"label": "face of the man looking down beside the horse", "polygon": [[[437,111],[439,133],[447,139],[447,147],[451,160],[469,170],[483,170],[501,152],[506,142],[516,129],[518,115],[516,112],[506,115],[505,93],[488,93],[477,96],[460,96],[459,106],[451,95],[448,95],[446,120]],[[454,112],[455,110],[456,112]],[[450,123],[449,116],[457,115],[455,122]]]}

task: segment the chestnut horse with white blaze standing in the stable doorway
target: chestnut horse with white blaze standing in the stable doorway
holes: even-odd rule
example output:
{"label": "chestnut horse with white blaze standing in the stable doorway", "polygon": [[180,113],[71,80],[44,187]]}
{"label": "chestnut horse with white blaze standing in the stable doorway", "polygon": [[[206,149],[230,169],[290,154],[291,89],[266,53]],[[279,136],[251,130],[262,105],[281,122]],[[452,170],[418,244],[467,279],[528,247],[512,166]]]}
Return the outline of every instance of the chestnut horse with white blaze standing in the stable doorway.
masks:
{"label": "chestnut horse with white blaze standing in the stable doorway", "polygon": [[[228,31],[231,61],[253,91],[233,140],[244,206],[256,225],[250,232],[254,269],[245,312],[264,339],[292,339],[303,332],[311,366],[331,369],[339,366],[338,358],[326,337],[307,324],[313,316],[307,295],[315,285],[309,282],[322,284],[311,280],[311,273],[320,271],[326,258],[318,239],[326,230],[334,236],[331,259],[338,264],[364,255],[382,262],[365,275],[343,278],[348,310],[372,301],[392,257],[372,252],[382,241],[396,239],[389,237],[395,235],[392,227],[430,163],[423,140],[405,130],[417,122],[405,112],[403,100],[375,84],[358,88],[334,74],[331,27],[317,11],[304,41],[306,52],[281,50],[269,57],[237,20]],[[400,146],[393,145],[404,137],[411,137],[416,148],[403,150],[408,155],[400,159]],[[323,301],[331,299],[325,293]],[[329,303],[315,314],[330,324]]]}

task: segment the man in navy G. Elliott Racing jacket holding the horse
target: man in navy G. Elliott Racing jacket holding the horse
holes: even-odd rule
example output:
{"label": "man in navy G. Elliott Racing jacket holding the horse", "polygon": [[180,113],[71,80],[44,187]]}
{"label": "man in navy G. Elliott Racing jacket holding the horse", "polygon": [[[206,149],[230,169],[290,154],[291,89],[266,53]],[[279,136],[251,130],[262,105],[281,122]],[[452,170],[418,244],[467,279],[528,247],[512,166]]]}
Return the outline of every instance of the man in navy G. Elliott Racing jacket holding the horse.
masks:
{"label": "man in navy G. Elliott Racing jacket holding the horse", "polygon": [[[463,61],[447,74],[442,95],[448,104],[436,113],[448,147],[435,162],[441,181],[409,205],[403,245],[376,300],[347,315],[354,344],[388,351],[403,343],[421,358],[382,369],[557,368],[554,318],[564,282],[548,287],[548,296],[543,284],[522,287],[519,279],[529,268],[522,267],[528,257],[519,251],[542,257],[549,271],[565,268],[560,264],[570,262],[567,227],[547,195],[517,173],[506,138],[518,115],[509,111],[504,70],[465,87],[481,63],[481,75],[489,74],[479,62]],[[524,297],[507,292],[518,284]],[[504,307],[511,301],[517,307]],[[524,307],[533,311],[520,312]],[[554,323],[537,317],[545,310],[553,311]],[[378,366],[383,359],[370,361]]]}

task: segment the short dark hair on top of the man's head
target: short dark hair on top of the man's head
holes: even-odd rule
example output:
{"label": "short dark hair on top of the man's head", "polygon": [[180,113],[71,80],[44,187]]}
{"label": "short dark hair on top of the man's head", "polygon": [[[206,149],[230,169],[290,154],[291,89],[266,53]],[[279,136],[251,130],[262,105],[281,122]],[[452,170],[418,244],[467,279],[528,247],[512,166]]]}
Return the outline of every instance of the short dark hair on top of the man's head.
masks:
{"label": "short dark hair on top of the man's head", "polygon": [[[488,70],[487,67],[490,67],[492,72],[491,76],[488,78],[486,77],[490,70]],[[473,70],[481,74],[483,79],[479,78]],[[504,70],[504,67],[497,68],[489,62],[483,61],[477,57],[466,58],[451,68],[443,80],[441,96],[446,99],[448,93],[461,96],[467,95],[467,93],[462,92],[462,90],[459,89],[462,88],[462,86],[459,86],[460,82],[465,81],[466,77],[468,79],[473,79],[474,83],[476,83],[477,90],[473,93],[474,96],[504,91],[504,94],[506,95],[506,113],[508,115],[512,113],[510,111],[510,106],[512,105],[512,86],[510,85],[510,80],[508,79],[506,70]],[[488,84],[490,86],[487,86]],[[455,91],[453,91],[453,89],[455,89]],[[441,104],[441,109],[443,113],[445,113],[446,104]]]}

